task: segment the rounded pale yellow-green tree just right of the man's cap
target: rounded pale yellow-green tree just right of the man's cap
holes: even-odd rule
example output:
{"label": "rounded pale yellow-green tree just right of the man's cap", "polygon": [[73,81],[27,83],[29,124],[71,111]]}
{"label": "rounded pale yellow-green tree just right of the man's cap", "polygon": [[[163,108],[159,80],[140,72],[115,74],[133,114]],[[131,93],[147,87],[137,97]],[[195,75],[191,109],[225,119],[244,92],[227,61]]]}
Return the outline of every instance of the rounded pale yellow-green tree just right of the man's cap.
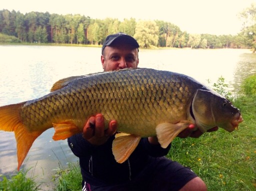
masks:
{"label": "rounded pale yellow-green tree just right of the man's cap", "polygon": [[158,26],[155,21],[139,20],[136,24],[134,38],[141,48],[150,48],[157,46]]}

